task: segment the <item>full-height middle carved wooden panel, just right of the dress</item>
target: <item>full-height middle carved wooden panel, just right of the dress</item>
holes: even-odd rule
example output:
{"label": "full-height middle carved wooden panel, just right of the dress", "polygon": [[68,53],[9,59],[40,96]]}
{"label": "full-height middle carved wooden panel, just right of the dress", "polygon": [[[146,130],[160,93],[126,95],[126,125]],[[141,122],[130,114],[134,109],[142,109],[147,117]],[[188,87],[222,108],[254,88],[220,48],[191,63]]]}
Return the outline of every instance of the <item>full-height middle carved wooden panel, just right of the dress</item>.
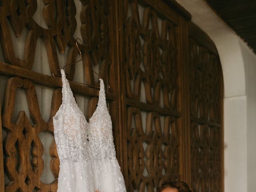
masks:
{"label": "full-height middle carved wooden panel, just right of the dress", "polygon": [[123,3],[129,192],[181,179],[178,24],[150,2]]}

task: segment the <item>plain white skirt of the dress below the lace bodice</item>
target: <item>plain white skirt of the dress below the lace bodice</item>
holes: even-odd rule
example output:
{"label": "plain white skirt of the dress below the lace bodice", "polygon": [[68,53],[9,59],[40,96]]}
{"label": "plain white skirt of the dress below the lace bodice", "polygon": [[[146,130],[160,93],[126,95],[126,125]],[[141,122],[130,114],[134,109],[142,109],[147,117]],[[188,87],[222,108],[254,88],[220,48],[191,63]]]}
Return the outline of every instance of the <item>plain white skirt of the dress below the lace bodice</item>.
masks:
{"label": "plain white skirt of the dress below the lace bodice", "polygon": [[126,192],[116,160],[66,162],[60,165],[57,192]]}

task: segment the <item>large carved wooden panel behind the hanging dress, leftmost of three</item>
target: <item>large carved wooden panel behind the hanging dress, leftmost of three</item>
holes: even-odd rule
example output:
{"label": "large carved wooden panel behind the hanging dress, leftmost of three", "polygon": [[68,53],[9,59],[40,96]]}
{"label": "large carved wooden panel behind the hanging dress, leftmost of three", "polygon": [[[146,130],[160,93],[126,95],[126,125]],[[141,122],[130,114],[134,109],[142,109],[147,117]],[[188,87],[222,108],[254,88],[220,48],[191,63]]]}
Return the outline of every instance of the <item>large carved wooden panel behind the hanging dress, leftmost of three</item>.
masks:
{"label": "large carved wooden panel behind the hanging dress, leftmost of three", "polygon": [[[115,124],[117,106],[115,102],[116,77],[114,76],[116,66],[112,52],[115,50],[112,26],[114,21],[113,13],[110,13],[112,2],[110,0],[44,0],[42,2],[0,0],[0,51],[2,52],[0,74],[11,76],[5,88],[0,90],[4,92],[2,128],[6,135],[3,141],[3,153],[0,150],[0,158],[2,156],[4,158],[4,161],[1,161],[1,164],[4,164],[4,170],[0,166],[0,182],[5,179],[6,192],[56,192],[57,190],[59,160],[56,144],[53,141],[49,148],[44,149],[42,140],[48,138],[40,138],[39,135],[45,131],[53,135],[52,117],[62,102],[62,93],[60,78],[53,78],[51,75],[60,66],[72,64],[78,60],[79,52],[76,48],[75,32],[82,37],[82,42],[78,41],[78,47],[82,51],[83,60],[67,66],[66,77],[68,80],[78,79],[75,76],[77,74],[79,77],[84,76],[84,79],[80,78],[80,82],[99,86],[99,77],[90,68],[96,70],[104,79],[105,85],[109,85],[109,89],[106,89],[106,96],[110,98],[109,110],[113,130],[118,132],[118,125]],[[76,7],[77,5],[81,7]],[[78,17],[76,17],[77,8],[80,10]],[[38,19],[34,19],[36,17],[40,17],[44,22],[38,22]],[[76,20],[76,18],[80,19]],[[77,27],[78,23],[80,27]],[[16,44],[21,38],[24,51],[22,50],[22,54],[18,55]],[[37,46],[44,47],[46,50],[49,66],[35,62],[38,56]],[[63,62],[60,58],[65,58],[64,63],[60,63]],[[46,75],[34,72],[34,68],[49,68],[49,73]],[[60,77],[59,71],[54,74]],[[35,86],[38,85],[35,83],[47,87],[36,88]],[[86,108],[84,109],[85,115],[89,119],[98,102],[98,88],[76,82],[70,82],[70,86],[75,93],[90,96],[82,99],[79,96],[82,100],[80,107]],[[47,95],[47,98],[42,98],[40,95],[40,102],[43,100],[45,103],[51,103],[50,110],[44,111],[49,116],[47,121],[42,118],[42,105],[39,105],[37,96],[38,90],[40,90],[39,94],[49,94],[45,93],[44,89],[47,91],[52,88],[54,88],[52,97]],[[26,94],[26,99],[22,102],[24,105],[27,103],[28,111],[19,111],[18,117],[14,118],[14,112],[17,112],[19,105],[15,98],[20,97],[16,94],[17,90]],[[2,133],[0,134],[2,139]],[[117,145],[116,148],[118,149],[117,156],[119,156],[120,146]],[[50,153],[50,165],[44,162],[45,150]],[[50,183],[42,181],[46,166],[50,166],[50,171],[55,178]],[[5,177],[2,178],[2,175]]]}

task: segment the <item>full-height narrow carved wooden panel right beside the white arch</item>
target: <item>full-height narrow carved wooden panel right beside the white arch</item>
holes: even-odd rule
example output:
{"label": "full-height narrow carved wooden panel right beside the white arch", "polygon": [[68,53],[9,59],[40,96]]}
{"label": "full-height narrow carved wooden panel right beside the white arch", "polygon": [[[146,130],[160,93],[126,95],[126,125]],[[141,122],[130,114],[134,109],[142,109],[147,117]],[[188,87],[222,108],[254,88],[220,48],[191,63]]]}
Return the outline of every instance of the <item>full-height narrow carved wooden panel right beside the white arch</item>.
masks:
{"label": "full-height narrow carved wooden panel right beside the white arch", "polygon": [[218,55],[190,38],[191,176],[198,192],[222,186],[222,74]]}

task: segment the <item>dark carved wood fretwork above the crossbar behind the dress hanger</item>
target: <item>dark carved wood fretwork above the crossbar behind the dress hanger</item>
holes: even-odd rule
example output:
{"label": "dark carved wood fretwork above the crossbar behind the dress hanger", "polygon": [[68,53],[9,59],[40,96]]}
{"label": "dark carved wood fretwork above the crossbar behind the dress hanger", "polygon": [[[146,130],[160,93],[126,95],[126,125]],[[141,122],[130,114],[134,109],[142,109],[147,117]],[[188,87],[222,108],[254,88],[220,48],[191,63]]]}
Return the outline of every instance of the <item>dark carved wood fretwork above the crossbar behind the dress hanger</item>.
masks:
{"label": "dark carved wood fretwork above the crossbar behind the dress hanger", "polygon": [[[78,44],[83,53],[87,83],[94,84],[94,74],[88,66],[92,67],[92,63],[100,64],[100,76],[106,81],[110,65],[110,56],[107,54],[109,7],[105,1],[101,0],[81,0],[81,2],[83,4],[81,33],[84,44]],[[60,68],[57,48],[60,53],[64,53],[68,46],[66,64],[76,61],[78,50],[73,37],[76,30],[74,0],[45,0],[44,4],[43,17],[48,29],[40,26],[32,18],[37,9],[36,0],[3,0],[0,3],[0,44],[6,63],[31,69],[34,65],[38,38],[42,38],[46,46],[51,73]],[[12,29],[9,28],[8,22]],[[28,34],[23,59],[20,59],[14,54],[10,30],[14,31],[16,37],[19,37],[25,28],[28,30]],[[74,73],[75,65],[66,68],[68,80],[73,80]],[[55,76],[60,77],[60,72],[56,72]]]}

